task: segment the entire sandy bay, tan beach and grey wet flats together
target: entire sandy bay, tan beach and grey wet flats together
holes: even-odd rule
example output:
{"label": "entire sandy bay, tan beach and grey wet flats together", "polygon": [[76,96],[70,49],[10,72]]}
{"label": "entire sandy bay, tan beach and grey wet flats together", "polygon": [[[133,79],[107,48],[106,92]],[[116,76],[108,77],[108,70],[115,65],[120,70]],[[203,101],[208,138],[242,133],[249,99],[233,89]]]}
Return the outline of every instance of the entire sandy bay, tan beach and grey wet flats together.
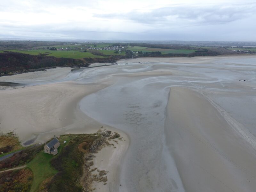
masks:
{"label": "entire sandy bay, tan beach and grey wet flats together", "polygon": [[95,191],[254,192],[255,60],[137,58],[3,76],[25,85],[0,90],[0,131],[25,145],[120,132],[95,154],[92,168],[108,171]]}

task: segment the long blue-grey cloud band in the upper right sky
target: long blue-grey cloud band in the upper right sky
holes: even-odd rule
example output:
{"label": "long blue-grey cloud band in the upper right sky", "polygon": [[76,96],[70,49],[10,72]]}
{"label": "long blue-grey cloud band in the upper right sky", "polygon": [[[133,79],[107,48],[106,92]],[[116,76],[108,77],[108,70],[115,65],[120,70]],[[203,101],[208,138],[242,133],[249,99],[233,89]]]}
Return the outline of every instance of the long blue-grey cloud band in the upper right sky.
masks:
{"label": "long blue-grey cloud band in the upper right sky", "polygon": [[[145,24],[223,24],[243,19],[256,12],[256,4],[176,5],[153,9],[150,12],[132,11],[124,14],[95,14],[95,17],[126,19]],[[180,22],[180,23],[178,23]]]}

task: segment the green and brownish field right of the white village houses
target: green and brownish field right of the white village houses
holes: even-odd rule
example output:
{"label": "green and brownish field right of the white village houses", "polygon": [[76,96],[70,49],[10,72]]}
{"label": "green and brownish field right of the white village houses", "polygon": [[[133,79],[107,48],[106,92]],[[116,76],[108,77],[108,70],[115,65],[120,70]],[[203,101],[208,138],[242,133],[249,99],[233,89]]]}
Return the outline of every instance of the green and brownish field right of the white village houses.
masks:
{"label": "green and brownish field right of the white village houses", "polygon": [[137,52],[137,51],[142,51],[142,52],[156,52],[160,51],[162,54],[168,54],[168,53],[174,53],[174,54],[189,54],[193,53],[196,50],[191,50],[191,49],[161,49],[161,48],[147,48],[147,47],[139,47],[139,46],[128,46],[128,50]]}

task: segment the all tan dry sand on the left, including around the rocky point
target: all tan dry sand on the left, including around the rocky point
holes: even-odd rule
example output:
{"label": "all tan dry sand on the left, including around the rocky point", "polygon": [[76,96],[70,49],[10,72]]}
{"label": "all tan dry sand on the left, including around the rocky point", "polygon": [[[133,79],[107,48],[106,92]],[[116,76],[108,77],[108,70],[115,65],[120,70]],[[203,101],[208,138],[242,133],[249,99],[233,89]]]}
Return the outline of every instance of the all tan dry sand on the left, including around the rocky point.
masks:
{"label": "all tan dry sand on the left, including around the rocky point", "polygon": [[[101,82],[90,85],[74,82],[49,83],[65,79],[70,71],[70,68],[57,68],[2,77],[1,80],[7,82],[26,81],[33,84],[39,81],[40,84],[0,90],[1,132],[14,131],[18,134],[21,144],[31,145],[43,143],[54,135],[58,137],[67,133],[94,133],[99,129],[118,131],[86,116],[78,105],[84,96],[97,92],[111,83]],[[103,148],[94,158],[94,166],[108,171],[108,180],[112,182],[112,185],[95,183],[98,191],[117,186],[115,186],[115,180],[118,180],[118,170],[129,145],[127,135],[122,131],[118,132],[124,138],[119,141],[120,144],[115,148],[113,146]]]}

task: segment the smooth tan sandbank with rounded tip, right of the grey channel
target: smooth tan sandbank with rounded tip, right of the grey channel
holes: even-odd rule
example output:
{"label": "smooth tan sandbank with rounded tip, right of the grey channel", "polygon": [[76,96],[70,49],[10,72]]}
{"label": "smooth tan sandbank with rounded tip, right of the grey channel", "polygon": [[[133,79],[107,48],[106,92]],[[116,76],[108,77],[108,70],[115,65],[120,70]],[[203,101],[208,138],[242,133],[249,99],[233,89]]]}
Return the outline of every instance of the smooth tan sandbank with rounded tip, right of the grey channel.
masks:
{"label": "smooth tan sandbank with rounded tip, right of the grey channel", "polygon": [[165,133],[186,191],[255,191],[255,149],[203,95],[171,88]]}

